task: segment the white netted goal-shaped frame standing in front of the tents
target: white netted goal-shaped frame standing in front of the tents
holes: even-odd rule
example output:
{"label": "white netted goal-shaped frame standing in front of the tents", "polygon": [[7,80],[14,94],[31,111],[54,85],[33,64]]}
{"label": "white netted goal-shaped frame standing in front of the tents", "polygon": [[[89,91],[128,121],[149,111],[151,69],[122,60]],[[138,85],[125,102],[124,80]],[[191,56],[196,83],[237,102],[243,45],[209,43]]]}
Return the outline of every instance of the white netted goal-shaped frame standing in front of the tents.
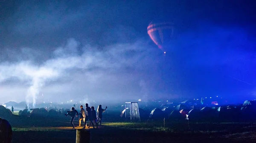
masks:
{"label": "white netted goal-shaped frame standing in front of the tents", "polygon": [[140,122],[138,102],[125,102],[125,118],[131,118],[131,122]]}

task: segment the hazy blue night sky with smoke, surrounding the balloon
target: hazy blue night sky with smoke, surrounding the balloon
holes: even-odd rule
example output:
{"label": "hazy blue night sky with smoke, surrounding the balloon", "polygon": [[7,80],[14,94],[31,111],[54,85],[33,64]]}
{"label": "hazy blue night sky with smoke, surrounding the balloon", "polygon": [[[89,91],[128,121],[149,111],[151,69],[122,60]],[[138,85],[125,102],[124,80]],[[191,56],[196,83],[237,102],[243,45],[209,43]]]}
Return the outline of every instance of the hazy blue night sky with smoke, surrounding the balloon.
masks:
{"label": "hazy blue night sky with smoke, surrounding the balloon", "polygon": [[[253,0],[165,1],[0,0],[0,103],[254,98]],[[147,34],[163,17],[165,56]]]}

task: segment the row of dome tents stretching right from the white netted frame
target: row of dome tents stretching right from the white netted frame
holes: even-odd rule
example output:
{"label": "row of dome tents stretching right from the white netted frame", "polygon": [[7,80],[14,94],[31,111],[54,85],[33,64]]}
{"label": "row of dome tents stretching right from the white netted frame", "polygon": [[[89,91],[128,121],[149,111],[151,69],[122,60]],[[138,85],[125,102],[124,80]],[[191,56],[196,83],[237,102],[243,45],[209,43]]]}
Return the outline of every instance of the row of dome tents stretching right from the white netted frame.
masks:
{"label": "row of dome tents stretching right from the white netted frame", "polygon": [[244,104],[220,107],[194,107],[178,104],[163,109],[148,110],[139,108],[141,120],[185,120],[189,121],[254,121],[256,120],[256,100],[244,101]]}

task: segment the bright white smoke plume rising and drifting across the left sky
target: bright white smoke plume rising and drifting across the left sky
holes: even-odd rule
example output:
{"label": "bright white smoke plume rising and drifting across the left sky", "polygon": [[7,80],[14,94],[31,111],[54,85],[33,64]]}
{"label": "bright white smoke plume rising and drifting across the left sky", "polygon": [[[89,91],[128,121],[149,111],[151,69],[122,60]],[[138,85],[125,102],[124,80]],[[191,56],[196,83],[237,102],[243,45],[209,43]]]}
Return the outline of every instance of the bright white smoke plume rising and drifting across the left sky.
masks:
{"label": "bright white smoke plume rising and drifting across the left sky", "polygon": [[[35,61],[22,60],[18,62],[0,63],[0,83],[8,82],[11,79],[17,79],[25,83],[28,87],[26,93],[26,103],[37,102],[37,96],[46,83],[64,78],[70,71],[90,70],[91,68],[102,68],[114,70],[120,66],[131,66],[138,57],[134,59],[125,59],[122,56],[126,51],[137,50],[137,44],[122,44],[114,47],[108,47],[106,51],[90,50],[90,45],[84,47],[83,52],[78,52],[79,42],[75,39],[69,39],[67,45],[59,47],[53,52],[53,57],[45,60],[41,64]],[[89,46],[89,47],[88,47]],[[118,47],[118,48],[116,48]],[[29,54],[29,53],[28,53]],[[114,71],[112,71],[114,72]]]}

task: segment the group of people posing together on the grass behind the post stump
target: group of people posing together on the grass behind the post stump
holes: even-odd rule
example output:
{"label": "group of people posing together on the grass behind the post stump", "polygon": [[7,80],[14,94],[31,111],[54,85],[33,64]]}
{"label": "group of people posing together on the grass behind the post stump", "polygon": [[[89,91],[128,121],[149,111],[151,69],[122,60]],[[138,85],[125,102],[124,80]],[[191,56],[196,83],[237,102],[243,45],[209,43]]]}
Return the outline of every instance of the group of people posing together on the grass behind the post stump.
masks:
{"label": "group of people posing together on the grass behind the post stump", "polygon": [[[71,108],[71,111],[67,111],[67,114],[65,113],[66,116],[70,115],[71,116],[71,120],[70,123],[73,126],[73,129],[75,129],[74,126],[74,119],[75,117],[77,117],[78,115],[80,115],[79,117],[79,126],[77,127],[81,127],[81,120],[84,121],[84,128],[90,128],[90,125],[93,126],[93,129],[95,129],[94,127],[94,123],[96,124],[96,127],[98,128],[98,124],[101,126],[102,124],[102,113],[108,108],[106,107],[105,109],[102,109],[102,105],[98,106],[97,112],[95,111],[95,108],[89,107],[88,104],[85,104],[85,110],[83,105],[80,105],[80,113],[75,109],[75,107]],[[97,122],[98,120],[98,122]],[[89,121],[89,125],[87,126],[87,121]]]}

